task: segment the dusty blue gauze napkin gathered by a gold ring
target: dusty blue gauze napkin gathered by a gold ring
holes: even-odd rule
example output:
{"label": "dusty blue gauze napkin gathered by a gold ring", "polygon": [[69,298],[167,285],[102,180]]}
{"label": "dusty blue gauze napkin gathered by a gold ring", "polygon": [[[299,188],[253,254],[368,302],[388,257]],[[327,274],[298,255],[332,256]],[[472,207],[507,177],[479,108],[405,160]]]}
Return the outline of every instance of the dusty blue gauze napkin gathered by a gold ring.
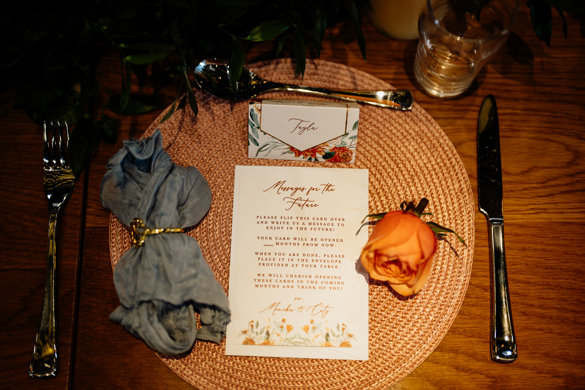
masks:
{"label": "dusty blue gauze napkin gathered by a gold ring", "polygon": [[[149,229],[195,225],[211,206],[211,189],[195,167],[171,162],[156,130],[129,139],[106,165],[101,201],[126,226],[142,219]],[[149,346],[184,353],[195,339],[218,343],[230,322],[228,298],[201,254],[183,233],[146,237],[120,257],[113,272],[121,306],[110,318]],[[197,330],[195,313],[201,329]]]}

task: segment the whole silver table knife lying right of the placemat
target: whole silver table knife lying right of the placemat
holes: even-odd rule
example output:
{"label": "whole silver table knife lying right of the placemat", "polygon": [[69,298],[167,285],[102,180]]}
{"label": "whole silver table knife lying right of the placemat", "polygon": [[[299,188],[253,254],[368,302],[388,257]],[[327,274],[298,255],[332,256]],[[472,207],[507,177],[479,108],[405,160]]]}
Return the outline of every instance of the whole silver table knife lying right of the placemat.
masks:
{"label": "whole silver table knife lying right of the placemat", "polygon": [[477,192],[486,216],[490,243],[491,358],[512,363],[518,357],[504,251],[500,124],[494,95],[487,95],[477,120]]}

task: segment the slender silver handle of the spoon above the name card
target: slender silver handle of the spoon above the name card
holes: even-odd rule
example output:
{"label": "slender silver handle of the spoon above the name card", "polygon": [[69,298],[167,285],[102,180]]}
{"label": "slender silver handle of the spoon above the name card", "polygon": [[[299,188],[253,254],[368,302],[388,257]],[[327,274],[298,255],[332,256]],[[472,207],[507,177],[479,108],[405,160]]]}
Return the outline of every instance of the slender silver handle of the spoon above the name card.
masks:
{"label": "slender silver handle of the spoon above the name card", "polygon": [[356,91],[354,89],[329,89],[307,87],[307,85],[280,84],[276,82],[271,83],[270,87],[271,88],[269,90],[264,92],[283,90],[305,92],[307,94],[332,96],[333,98],[348,100],[350,102],[359,101],[372,104],[374,106],[393,108],[403,111],[412,109],[412,105],[414,104],[414,97],[412,96],[412,91],[410,89],[394,89],[390,91]]}

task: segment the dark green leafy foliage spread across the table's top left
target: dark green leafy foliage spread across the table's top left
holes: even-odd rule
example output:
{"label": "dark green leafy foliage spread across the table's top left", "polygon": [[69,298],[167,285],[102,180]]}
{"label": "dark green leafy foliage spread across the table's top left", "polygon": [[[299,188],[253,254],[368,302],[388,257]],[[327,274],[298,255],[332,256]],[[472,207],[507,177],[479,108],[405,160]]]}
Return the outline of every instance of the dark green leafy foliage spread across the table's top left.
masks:
{"label": "dark green leafy foliage spread across the table's top left", "polygon": [[[14,107],[37,124],[67,120],[77,175],[101,141],[115,141],[118,121],[105,108],[128,115],[159,109],[157,91],[178,80],[177,98],[163,120],[187,102],[197,115],[189,75],[205,58],[230,58],[235,88],[245,48],[274,39],[276,56],[291,43],[287,51],[294,51],[297,71],[304,74],[306,42],[319,56],[326,27],[349,18],[365,59],[355,1],[344,0],[343,7],[340,0],[15,2],[0,22],[1,92],[15,91]],[[105,103],[95,73],[99,57],[112,49],[120,57],[122,83]],[[153,96],[130,93],[132,73],[140,89],[152,80]]]}

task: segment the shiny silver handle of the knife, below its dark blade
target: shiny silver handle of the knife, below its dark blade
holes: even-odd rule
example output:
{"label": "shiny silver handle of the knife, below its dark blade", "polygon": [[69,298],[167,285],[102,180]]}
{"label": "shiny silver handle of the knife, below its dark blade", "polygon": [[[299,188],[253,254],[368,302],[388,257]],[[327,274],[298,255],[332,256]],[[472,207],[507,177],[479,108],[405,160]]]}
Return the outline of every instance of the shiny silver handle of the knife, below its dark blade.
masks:
{"label": "shiny silver handle of the knife, below its dark blade", "polygon": [[491,274],[491,358],[500,363],[512,363],[518,357],[508,273],[504,251],[504,219],[489,218]]}

